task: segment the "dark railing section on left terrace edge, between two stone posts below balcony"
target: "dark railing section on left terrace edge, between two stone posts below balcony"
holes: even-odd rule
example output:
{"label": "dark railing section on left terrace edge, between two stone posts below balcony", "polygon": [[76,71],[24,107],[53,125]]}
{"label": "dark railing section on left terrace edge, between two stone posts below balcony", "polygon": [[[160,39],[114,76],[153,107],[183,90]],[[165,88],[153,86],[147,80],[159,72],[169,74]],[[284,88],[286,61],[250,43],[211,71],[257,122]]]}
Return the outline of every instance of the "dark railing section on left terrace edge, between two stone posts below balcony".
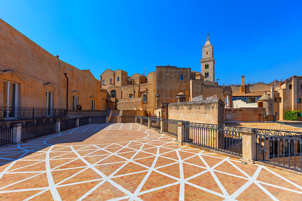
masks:
{"label": "dark railing section on left terrace edge, between two stone posts below balcony", "polygon": [[36,121],[21,124],[21,141],[56,132],[56,121]]}

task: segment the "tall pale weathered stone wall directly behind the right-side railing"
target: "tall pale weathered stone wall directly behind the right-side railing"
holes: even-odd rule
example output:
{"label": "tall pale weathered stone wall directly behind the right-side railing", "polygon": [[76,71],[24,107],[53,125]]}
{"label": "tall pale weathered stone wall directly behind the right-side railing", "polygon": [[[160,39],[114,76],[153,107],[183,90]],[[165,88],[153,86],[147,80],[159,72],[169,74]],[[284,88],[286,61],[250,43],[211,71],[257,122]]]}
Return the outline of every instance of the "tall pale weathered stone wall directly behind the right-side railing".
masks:
{"label": "tall pale weathered stone wall directly behind the right-side railing", "polygon": [[168,118],[203,124],[224,124],[221,99],[170,103]]}

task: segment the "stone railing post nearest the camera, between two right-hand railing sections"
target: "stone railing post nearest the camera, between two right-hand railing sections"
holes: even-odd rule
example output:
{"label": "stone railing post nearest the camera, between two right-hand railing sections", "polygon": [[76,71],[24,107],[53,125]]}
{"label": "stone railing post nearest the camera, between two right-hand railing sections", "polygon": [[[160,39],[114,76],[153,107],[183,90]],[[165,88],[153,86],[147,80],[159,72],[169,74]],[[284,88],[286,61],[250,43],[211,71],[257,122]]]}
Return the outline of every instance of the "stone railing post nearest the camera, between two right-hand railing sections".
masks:
{"label": "stone railing post nearest the camera, between two right-hand railing sections", "polygon": [[256,160],[256,130],[242,128],[242,158],[240,161],[255,163]]}

